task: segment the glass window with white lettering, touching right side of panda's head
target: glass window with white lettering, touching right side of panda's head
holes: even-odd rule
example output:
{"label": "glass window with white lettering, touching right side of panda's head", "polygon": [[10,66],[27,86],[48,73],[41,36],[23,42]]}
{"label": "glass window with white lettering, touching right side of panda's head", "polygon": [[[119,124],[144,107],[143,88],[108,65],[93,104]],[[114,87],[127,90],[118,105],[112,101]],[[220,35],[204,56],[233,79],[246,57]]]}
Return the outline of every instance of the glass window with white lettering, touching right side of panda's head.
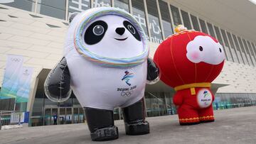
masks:
{"label": "glass window with white lettering, touching right side of panda's head", "polygon": [[149,39],[149,35],[146,30],[146,16],[143,0],[132,0],[132,15],[142,26],[144,32],[146,33],[147,39]]}

